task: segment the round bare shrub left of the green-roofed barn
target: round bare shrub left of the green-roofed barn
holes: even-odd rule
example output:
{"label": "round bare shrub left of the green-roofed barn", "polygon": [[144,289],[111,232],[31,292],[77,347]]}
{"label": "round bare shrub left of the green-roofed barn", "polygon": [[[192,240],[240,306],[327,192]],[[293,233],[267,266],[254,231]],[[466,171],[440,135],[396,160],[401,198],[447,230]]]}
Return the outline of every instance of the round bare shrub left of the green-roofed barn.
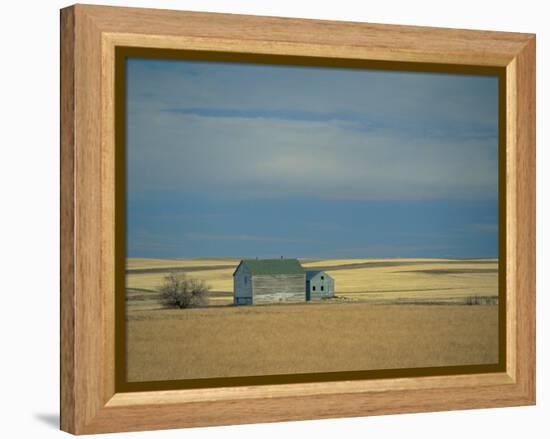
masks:
{"label": "round bare shrub left of the green-roofed barn", "polygon": [[180,309],[208,305],[209,290],[204,281],[176,272],[169,273],[159,289],[165,306]]}

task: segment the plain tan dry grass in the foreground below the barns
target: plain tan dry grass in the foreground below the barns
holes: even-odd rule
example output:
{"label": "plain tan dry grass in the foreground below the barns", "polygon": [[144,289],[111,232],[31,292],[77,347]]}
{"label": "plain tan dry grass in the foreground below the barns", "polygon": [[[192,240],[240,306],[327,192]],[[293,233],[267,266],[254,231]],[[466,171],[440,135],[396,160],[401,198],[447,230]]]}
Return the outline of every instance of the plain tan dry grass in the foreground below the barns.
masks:
{"label": "plain tan dry grass in the foreground below the barns", "polygon": [[304,304],[128,321],[129,381],[488,364],[496,306]]}

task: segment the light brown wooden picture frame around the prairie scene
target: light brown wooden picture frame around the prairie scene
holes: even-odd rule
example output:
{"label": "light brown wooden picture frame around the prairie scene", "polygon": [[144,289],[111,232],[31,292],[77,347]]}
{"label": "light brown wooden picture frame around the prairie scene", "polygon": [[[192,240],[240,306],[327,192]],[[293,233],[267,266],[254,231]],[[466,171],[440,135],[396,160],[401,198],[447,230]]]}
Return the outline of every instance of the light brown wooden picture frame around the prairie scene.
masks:
{"label": "light brown wooden picture frame around the prairie scene", "polygon": [[[161,48],[505,72],[505,371],[115,388],[115,52]],[[118,328],[120,331],[120,328]],[[535,403],[535,36],[76,5],[61,11],[61,429],[74,434]]]}

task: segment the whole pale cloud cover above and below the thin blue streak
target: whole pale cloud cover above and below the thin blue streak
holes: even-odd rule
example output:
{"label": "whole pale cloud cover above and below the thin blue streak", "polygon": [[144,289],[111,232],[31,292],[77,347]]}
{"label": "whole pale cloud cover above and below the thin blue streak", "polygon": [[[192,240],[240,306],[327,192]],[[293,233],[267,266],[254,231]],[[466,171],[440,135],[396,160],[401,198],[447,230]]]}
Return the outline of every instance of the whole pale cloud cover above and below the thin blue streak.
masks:
{"label": "whole pale cloud cover above and below the thin blue streak", "polygon": [[[497,196],[496,81],[265,66],[176,67],[130,69],[132,192],[200,191],[241,198]],[[360,116],[315,121],[166,111],[182,106]]]}

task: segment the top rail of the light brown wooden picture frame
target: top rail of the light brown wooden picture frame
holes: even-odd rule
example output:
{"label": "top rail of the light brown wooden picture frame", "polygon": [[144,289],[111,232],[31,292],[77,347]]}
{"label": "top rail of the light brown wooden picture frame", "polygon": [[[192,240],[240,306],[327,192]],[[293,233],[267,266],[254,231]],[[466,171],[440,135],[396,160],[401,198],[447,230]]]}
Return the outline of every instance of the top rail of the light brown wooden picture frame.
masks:
{"label": "top rail of the light brown wooden picture frame", "polygon": [[[128,35],[185,36],[218,46],[243,42],[255,51],[299,50],[309,56],[346,57],[348,49],[366,59],[506,66],[521,50],[526,34],[430,27],[257,17],[158,9],[82,6],[104,32]],[[263,50],[262,50],[263,49]],[[223,50],[229,50],[224,47]]]}

